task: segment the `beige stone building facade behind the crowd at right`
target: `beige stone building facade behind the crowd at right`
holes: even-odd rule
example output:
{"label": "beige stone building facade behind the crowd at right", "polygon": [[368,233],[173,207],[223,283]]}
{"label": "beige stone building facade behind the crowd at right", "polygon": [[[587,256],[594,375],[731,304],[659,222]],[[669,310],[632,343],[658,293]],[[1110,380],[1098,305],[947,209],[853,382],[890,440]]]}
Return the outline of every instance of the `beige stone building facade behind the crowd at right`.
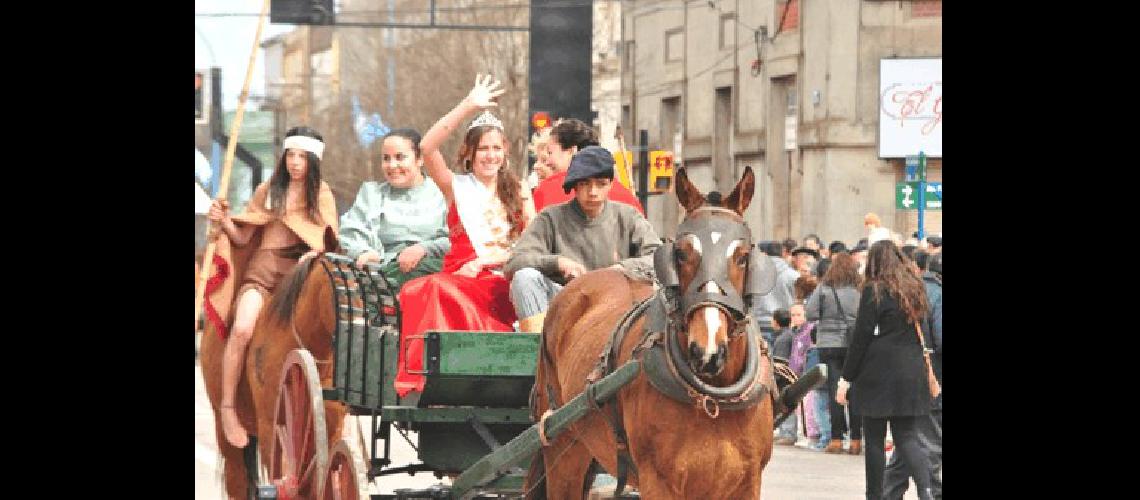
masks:
{"label": "beige stone building facade behind the crowd at right", "polygon": [[[727,194],[751,166],[746,220],[756,239],[816,233],[852,245],[865,236],[866,212],[905,236],[917,230],[917,213],[895,208],[904,159],[879,157],[879,64],[940,59],[942,1],[621,7],[620,108],[604,101],[598,116],[620,116],[627,140],[648,130],[650,149],[673,150],[703,191]],[[928,180],[942,181],[940,157],[928,162]],[[654,228],[675,236],[676,197],[652,195],[648,208]],[[942,212],[927,212],[925,227],[939,233]]]}

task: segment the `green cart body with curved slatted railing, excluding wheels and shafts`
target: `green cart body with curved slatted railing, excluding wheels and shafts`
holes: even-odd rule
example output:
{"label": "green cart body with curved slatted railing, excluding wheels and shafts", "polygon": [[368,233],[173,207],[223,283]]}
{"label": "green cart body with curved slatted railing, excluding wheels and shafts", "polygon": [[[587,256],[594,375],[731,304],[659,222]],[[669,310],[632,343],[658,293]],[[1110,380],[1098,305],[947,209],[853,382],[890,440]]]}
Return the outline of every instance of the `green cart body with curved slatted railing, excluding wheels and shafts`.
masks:
{"label": "green cart body with curved slatted railing, excluding wheels and shafts", "polygon": [[[400,473],[440,477],[462,472],[531,425],[526,407],[537,334],[427,331],[422,336],[424,391],[399,397],[391,385],[402,349],[398,290],[375,264],[361,270],[348,256],[325,254],[321,265],[332,280],[336,325],[333,384],[324,397],[348,404],[352,415],[372,416],[369,481]],[[420,445],[413,446],[423,464],[385,468],[393,431],[406,440],[407,431],[420,433]],[[383,448],[377,440],[384,441]],[[514,490],[521,486],[520,473],[518,467],[504,470],[510,477],[489,486]]]}

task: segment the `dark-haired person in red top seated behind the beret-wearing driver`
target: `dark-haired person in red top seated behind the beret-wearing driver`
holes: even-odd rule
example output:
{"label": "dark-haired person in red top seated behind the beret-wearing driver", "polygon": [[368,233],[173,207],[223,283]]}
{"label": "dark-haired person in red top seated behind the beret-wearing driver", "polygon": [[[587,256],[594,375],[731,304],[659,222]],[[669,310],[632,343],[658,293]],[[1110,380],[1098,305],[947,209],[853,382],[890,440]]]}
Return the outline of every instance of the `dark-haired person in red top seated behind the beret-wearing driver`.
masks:
{"label": "dark-haired person in red top seated behind the beret-wearing driver", "polygon": [[[562,189],[562,183],[565,181],[567,170],[570,169],[570,158],[586,146],[600,146],[597,132],[580,120],[563,120],[551,129],[551,139],[546,144],[546,165],[553,173],[535,188],[535,212],[573,199],[570,190]],[[637,197],[620,182],[613,182],[609,199],[633,206],[645,216],[645,208],[642,208]]]}

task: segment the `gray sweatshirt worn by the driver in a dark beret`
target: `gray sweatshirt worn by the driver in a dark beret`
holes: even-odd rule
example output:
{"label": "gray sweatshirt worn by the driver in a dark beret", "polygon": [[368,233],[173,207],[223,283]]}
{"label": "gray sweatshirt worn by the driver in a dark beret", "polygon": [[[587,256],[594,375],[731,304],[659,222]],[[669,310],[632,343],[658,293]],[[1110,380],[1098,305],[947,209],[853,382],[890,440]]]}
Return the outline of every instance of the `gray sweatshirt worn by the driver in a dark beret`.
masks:
{"label": "gray sweatshirt worn by the driver in a dark beret", "polygon": [[650,279],[659,246],[661,238],[636,208],[606,200],[597,218],[587,219],[571,199],[544,208],[527,226],[503,272],[511,279],[515,271],[534,268],[564,285],[559,271],[559,256],[564,256],[591,271],[621,264],[627,274]]}

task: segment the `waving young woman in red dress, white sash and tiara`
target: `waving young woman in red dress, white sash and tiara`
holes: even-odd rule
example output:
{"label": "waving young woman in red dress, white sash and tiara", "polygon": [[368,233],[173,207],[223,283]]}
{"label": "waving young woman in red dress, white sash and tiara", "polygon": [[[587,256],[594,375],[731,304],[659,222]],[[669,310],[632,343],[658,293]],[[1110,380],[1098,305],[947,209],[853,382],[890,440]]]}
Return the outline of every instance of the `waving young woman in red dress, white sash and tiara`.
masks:
{"label": "waving young woman in red dress, white sash and tiara", "polygon": [[402,397],[423,391],[423,339],[409,338],[427,330],[513,331],[511,284],[502,267],[511,246],[535,216],[530,190],[511,171],[503,123],[483,112],[467,128],[459,147],[462,175],[448,170],[439,153],[447,136],[481,108],[498,106],[505,90],[490,75],[475,79],[471,92],[435,122],[420,142],[424,166],[447,199],[451,251],[443,269],[413,279],[400,289],[402,310],[400,356],[396,391]]}

